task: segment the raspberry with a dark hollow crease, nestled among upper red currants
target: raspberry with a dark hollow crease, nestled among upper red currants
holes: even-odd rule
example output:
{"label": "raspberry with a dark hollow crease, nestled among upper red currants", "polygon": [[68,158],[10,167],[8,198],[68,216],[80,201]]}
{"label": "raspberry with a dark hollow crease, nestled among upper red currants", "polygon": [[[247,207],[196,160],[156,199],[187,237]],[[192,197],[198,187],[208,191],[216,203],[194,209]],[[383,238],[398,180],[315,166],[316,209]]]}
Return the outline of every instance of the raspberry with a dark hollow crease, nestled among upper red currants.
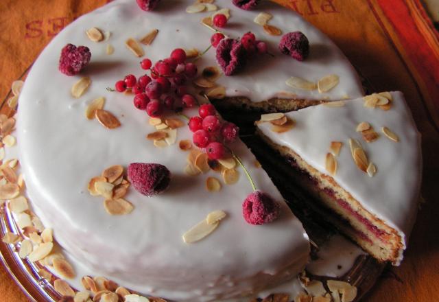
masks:
{"label": "raspberry with a dark hollow crease, nestled among upper red currants", "polygon": [[225,75],[237,73],[246,64],[246,49],[239,40],[222,39],[217,46],[216,57]]}

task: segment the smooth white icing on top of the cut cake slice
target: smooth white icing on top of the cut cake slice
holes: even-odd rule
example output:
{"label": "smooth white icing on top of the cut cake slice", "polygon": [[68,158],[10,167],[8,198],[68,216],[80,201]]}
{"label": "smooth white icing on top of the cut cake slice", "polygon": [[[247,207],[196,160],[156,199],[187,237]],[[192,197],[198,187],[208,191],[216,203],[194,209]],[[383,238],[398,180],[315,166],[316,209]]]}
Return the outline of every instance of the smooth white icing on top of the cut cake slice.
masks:
{"label": "smooth white icing on top of the cut cake slice", "polygon": [[[324,105],[287,113],[296,121],[293,130],[278,134],[270,130],[270,123],[259,128],[274,143],[294,150],[319,172],[325,170],[325,156],[331,141],[342,141],[337,159],[334,180],[352,194],[368,211],[384,220],[401,233],[403,245],[410,235],[416,216],[420,186],[421,154],[420,135],[400,92],[392,92],[393,102],[389,111],[364,107],[364,100],[348,100],[342,107]],[[367,121],[380,135],[377,141],[366,143],[355,129]],[[399,136],[391,141],[381,127],[390,128]],[[361,142],[368,159],[377,167],[377,174],[369,177],[355,165],[348,139]],[[402,252],[399,261],[402,259]]]}

